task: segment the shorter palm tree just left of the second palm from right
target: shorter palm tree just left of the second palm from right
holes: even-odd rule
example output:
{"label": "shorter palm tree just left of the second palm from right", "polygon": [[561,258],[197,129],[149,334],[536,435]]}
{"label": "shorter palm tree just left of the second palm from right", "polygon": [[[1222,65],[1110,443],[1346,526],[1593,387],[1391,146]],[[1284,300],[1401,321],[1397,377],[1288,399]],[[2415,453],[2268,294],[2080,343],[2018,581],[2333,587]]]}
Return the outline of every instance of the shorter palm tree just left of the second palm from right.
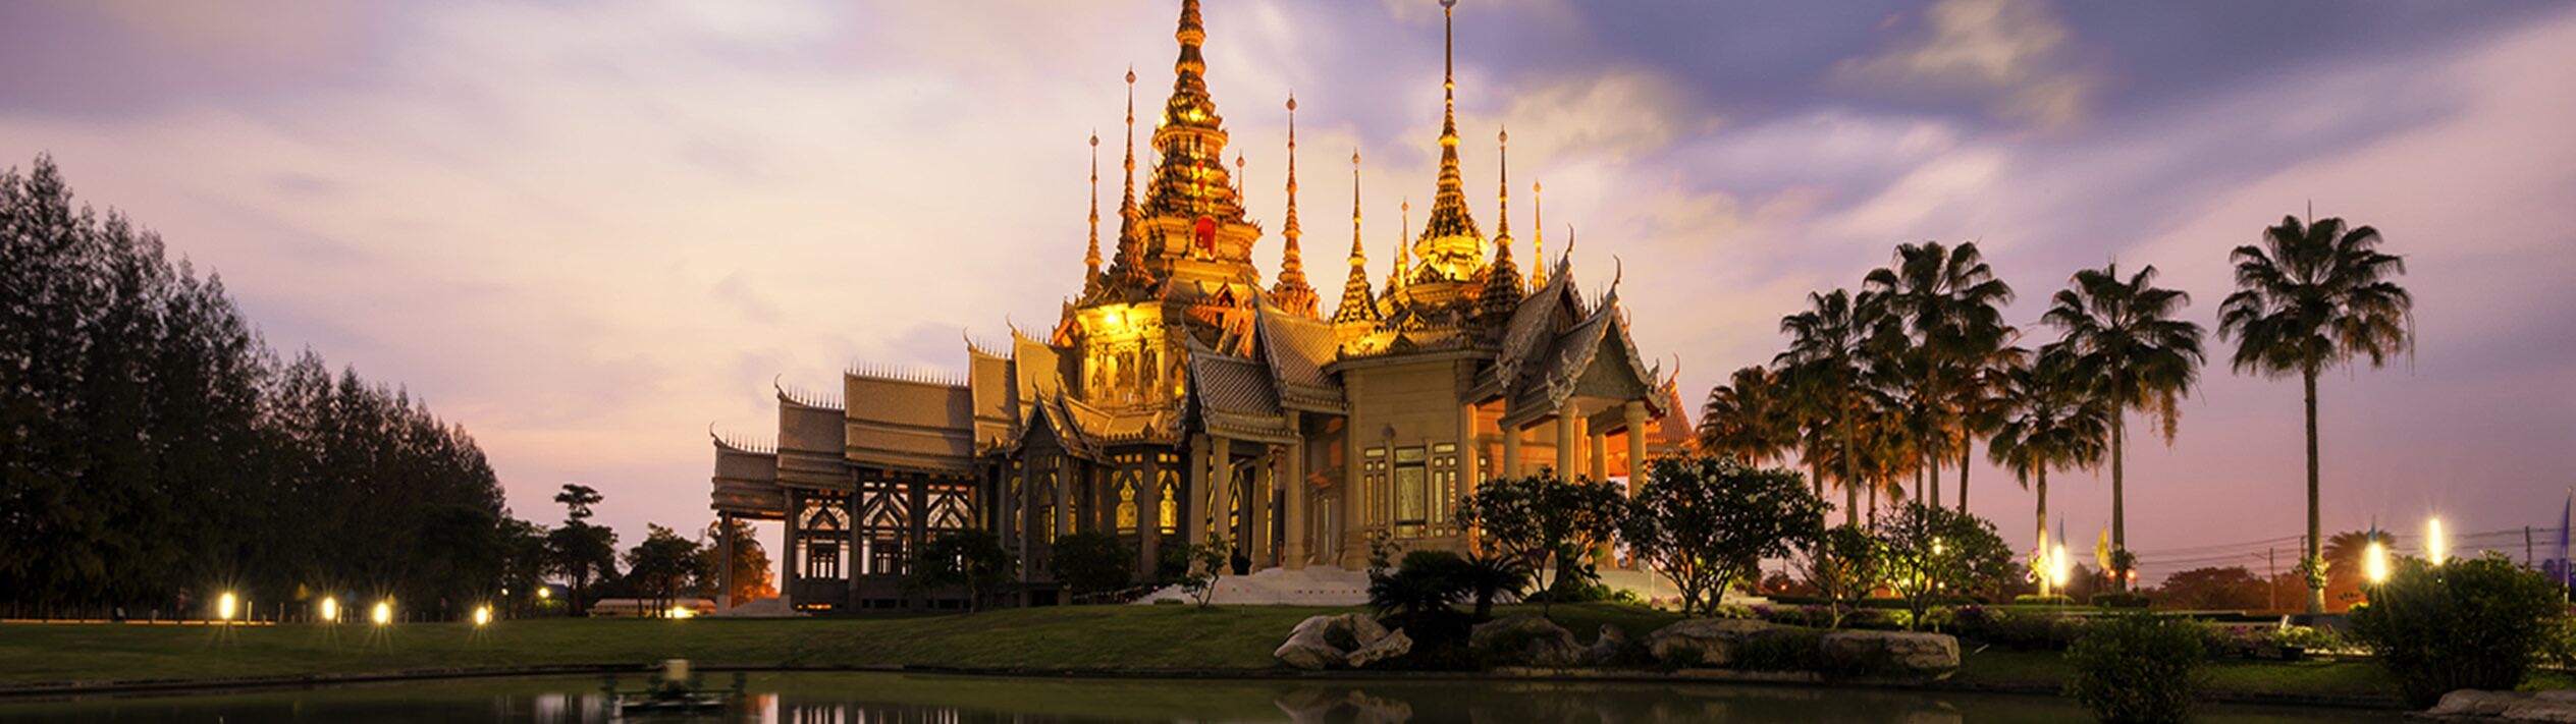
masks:
{"label": "shorter palm tree just left of the second palm from right", "polygon": [[[2110,415],[2094,397],[2084,394],[2084,379],[2066,348],[2040,353],[2027,366],[2002,368],[1996,376],[2002,386],[1994,394],[1994,407],[2002,412],[2002,423],[1994,428],[1986,459],[2009,469],[2022,487],[2038,495],[2038,541],[2045,557],[2048,472],[2102,464]],[[2048,593],[2048,577],[2040,577],[2040,593]]]}

